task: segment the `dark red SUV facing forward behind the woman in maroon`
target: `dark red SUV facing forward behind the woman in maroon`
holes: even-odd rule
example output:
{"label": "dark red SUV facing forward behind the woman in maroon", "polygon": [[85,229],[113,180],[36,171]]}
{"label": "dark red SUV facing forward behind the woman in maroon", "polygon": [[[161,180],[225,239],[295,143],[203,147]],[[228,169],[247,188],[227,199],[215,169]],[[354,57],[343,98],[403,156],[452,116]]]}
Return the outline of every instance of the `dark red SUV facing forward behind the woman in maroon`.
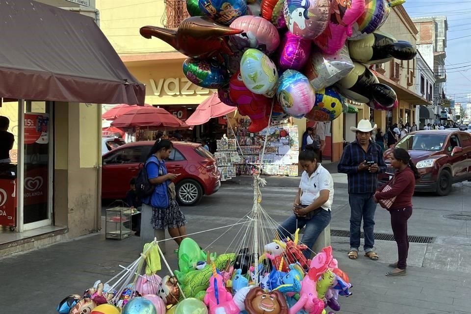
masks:
{"label": "dark red SUV facing forward behind the woman in maroon", "polygon": [[[406,135],[396,145],[406,149],[420,173],[416,191],[436,192],[445,196],[453,183],[471,180],[471,134],[454,130],[424,130]],[[380,183],[390,180],[392,149],[384,152],[388,169],[380,174]]]}

